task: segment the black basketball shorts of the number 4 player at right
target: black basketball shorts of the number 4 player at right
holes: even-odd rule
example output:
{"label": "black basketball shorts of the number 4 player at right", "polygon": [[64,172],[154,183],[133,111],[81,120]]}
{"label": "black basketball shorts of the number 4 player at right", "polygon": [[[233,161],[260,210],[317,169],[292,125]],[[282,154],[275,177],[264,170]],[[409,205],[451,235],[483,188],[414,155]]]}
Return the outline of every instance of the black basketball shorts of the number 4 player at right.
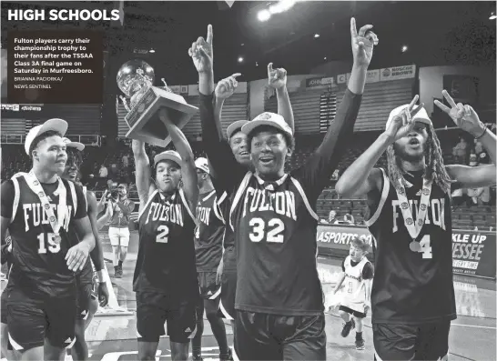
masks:
{"label": "black basketball shorts of the number 4 player at right", "polygon": [[424,325],[372,324],[377,361],[447,360],[451,321]]}

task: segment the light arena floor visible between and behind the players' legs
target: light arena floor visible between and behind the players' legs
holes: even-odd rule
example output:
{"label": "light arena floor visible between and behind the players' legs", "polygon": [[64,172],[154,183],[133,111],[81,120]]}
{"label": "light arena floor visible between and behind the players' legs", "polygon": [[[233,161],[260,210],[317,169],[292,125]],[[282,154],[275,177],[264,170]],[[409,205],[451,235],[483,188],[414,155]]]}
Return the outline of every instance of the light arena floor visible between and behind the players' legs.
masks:
{"label": "light arena floor visible between and behind the players' legs", "polygon": [[[111,259],[108,237],[103,236],[106,260]],[[86,330],[90,359],[102,361],[125,361],[137,358],[137,335],[135,293],[132,290],[132,277],[137,259],[137,235],[132,234],[127,261],[123,265],[124,276],[112,277],[112,264],[107,263],[111,274],[117,302],[120,307],[130,311],[126,316],[96,316]],[[319,259],[320,278],[326,295],[333,289],[340,261]],[[468,276],[455,276],[454,286],[457,302],[458,319],[452,322],[450,340],[450,360],[490,361],[496,357],[496,287],[495,282]],[[2,289],[5,282],[2,282]],[[341,361],[372,360],[370,317],[365,321],[364,339],[366,349],[357,351],[354,346],[354,330],[350,336],[340,336],[340,317],[332,314],[326,316],[328,336],[328,359]],[[232,345],[231,327],[227,325],[228,342]],[[203,357],[205,361],[218,360],[218,346],[205,321],[203,336]],[[159,343],[156,360],[170,360],[167,336]],[[4,361],[2,358],[0,361]],[[72,360],[66,356],[66,360]]]}

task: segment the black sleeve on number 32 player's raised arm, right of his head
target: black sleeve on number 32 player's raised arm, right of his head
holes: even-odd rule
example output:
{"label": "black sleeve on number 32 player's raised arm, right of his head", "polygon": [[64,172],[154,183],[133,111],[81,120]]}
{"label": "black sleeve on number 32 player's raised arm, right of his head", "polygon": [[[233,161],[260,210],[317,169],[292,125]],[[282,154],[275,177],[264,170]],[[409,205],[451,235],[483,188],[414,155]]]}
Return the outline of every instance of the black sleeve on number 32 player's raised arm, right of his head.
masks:
{"label": "black sleeve on number 32 player's raised arm, right of his head", "polygon": [[315,204],[322,190],[328,186],[343,151],[350,145],[361,100],[362,95],[353,94],[349,89],[345,91],[337,115],[320,147],[305,165],[292,172],[301,182],[311,204]]}

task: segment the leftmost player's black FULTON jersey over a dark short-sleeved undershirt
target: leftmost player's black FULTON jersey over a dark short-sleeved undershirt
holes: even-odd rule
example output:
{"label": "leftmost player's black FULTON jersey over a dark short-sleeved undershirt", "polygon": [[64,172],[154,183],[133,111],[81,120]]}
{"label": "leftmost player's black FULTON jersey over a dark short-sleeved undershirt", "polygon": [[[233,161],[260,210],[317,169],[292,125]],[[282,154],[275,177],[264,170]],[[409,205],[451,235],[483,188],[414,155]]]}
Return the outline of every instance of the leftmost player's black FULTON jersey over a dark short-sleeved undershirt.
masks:
{"label": "leftmost player's black FULTON jersey over a dark short-sleeved undershirt", "polygon": [[[86,199],[81,186],[62,179],[66,187],[66,206],[59,209],[58,181],[41,184],[57,222],[62,224],[56,243],[54,230],[37,194],[28,186],[25,175],[2,185],[2,216],[10,219],[13,266],[9,282],[25,292],[41,296],[75,296],[75,274],[66,265],[66,254],[77,240],[70,236],[73,220],[86,216]],[[63,202],[64,203],[64,202]]]}

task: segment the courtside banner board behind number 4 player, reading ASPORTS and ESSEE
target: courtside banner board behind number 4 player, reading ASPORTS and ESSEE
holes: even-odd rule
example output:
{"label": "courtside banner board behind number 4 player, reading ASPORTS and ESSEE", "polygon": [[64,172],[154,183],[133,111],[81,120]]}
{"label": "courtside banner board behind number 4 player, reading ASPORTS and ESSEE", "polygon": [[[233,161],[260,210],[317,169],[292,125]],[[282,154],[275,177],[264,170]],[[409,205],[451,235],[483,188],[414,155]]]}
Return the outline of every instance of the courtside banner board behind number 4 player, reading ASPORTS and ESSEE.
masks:
{"label": "courtside banner board behind number 4 player, reading ASPORTS and ESSEE", "polygon": [[[372,236],[366,227],[318,225],[317,241],[320,255],[346,256],[354,236],[365,239],[372,253]],[[465,276],[495,278],[495,232],[452,231],[453,273]]]}

